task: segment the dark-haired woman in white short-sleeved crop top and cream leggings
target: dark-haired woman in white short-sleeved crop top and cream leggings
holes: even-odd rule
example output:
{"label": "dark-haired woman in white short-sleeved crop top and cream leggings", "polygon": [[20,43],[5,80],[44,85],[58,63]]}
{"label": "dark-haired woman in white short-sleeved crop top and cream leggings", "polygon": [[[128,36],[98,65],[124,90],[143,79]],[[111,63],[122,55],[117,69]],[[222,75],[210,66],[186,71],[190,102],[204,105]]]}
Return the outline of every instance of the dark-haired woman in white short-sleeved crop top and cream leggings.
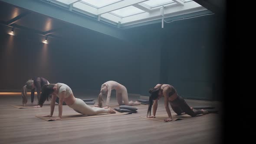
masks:
{"label": "dark-haired woman in white short-sleeved crop top and cream leggings", "polygon": [[79,98],[75,98],[71,88],[68,85],[63,83],[56,83],[56,84],[48,84],[44,85],[42,88],[41,98],[38,102],[38,105],[43,106],[44,101],[49,100],[50,95],[52,95],[51,99],[51,112],[50,115],[44,115],[46,117],[52,117],[53,111],[55,107],[55,100],[56,97],[59,97],[59,117],[53,118],[53,120],[61,119],[62,117],[62,103],[63,101],[66,102],[70,108],[73,108],[76,112],[83,114],[83,115],[98,115],[102,113],[115,113],[112,108],[91,108],[90,106],[86,105],[84,101]]}

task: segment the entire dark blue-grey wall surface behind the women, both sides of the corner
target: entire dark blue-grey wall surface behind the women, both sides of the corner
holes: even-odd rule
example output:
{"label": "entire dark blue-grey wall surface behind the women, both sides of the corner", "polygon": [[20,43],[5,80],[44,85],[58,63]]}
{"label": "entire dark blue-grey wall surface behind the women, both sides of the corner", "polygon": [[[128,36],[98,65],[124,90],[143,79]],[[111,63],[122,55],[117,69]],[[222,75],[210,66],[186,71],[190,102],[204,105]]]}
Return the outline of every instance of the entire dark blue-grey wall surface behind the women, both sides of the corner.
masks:
{"label": "entire dark blue-grey wall surface behind the women, both sides of the corner", "polygon": [[70,39],[44,44],[43,37],[7,31],[1,26],[0,89],[21,88],[42,76],[81,90],[115,80],[141,95],[168,83],[185,98],[222,97],[223,22],[214,15],[165,23],[164,29],[161,23],[126,29],[129,42],[78,28]]}

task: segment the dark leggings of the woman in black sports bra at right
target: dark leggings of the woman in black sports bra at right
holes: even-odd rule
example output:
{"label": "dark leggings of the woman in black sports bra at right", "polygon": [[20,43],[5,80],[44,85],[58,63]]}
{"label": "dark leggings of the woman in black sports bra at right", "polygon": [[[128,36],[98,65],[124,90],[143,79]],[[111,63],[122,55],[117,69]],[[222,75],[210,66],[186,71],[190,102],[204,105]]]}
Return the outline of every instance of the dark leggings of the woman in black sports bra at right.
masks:
{"label": "dark leggings of the woman in black sports bra at right", "polygon": [[176,99],[174,99],[174,101],[170,101],[170,104],[171,108],[177,115],[181,115],[183,112],[192,117],[203,114],[202,110],[191,110],[191,108],[187,105],[187,102],[181,96],[178,96]]}

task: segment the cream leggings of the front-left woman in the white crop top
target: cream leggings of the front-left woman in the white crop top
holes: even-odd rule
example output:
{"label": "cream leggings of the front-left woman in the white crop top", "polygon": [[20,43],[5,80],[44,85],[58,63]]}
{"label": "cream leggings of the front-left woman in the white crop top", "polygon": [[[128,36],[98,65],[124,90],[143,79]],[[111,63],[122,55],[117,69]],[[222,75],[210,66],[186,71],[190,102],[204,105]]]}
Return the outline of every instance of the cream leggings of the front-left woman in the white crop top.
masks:
{"label": "cream leggings of the front-left woman in the white crop top", "polygon": [[73,105],[69,105],[70,108],[73,108],[76,112],[83,114],[83,115],[98,115],[103,113],[108,113],[108,109],[105,108],[97,108],[97,107],[90,107],[86,105],[82,99],[75,98],[75,102]]}

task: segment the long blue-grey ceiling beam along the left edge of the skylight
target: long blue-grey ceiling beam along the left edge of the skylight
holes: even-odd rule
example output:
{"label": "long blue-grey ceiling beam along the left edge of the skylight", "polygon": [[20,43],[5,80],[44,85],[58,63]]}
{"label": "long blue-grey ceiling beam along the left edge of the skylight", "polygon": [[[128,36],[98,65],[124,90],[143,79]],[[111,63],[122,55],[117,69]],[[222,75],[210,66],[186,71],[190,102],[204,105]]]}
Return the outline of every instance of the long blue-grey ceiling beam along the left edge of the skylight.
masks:
{"label": "long blue-grey ceiling beam along the left edge of the skylight", "polygon": [[103,33],[108,36],[112,36],[118,39],[127,40],[125,34],[121,32],[115,26],[111,26],[102,23],[98,20],[83,16],[82,14],[75,13],[64,9],[62,7],[56,7],[51,3],[47,3],[43,0],[1,0],[6,3],[13,4],[17,7],[22,7],[27,10],[31,10],[36,13],[41,13],[46,16],[50,16],[67,23],[72,23],[77,26],[81,26],[86,29],[91,29],[98,33]]}

